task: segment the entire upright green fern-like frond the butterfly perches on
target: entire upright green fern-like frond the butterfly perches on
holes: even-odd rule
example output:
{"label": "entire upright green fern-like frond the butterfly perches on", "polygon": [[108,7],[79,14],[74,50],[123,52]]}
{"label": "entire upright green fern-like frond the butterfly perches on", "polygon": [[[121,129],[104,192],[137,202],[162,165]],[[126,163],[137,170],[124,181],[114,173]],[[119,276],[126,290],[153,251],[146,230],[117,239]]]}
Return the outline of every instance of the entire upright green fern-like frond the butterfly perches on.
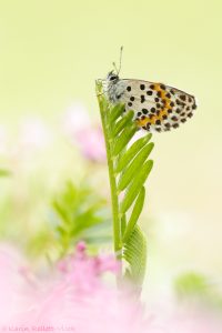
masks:
{"label": "entire upright green fern-like frond the butterfly perches on", "polygon": [[[130,145],[138,131],[133,121],[134,113],[123,112],[123,104],[111,105],[101,89],[101,85],[97,87],[110,176],[114,251],[118,259],[121,259],[123,251],[123,258],[129,263],[125,274],[141,285],[145,272],[147,245],[137,223],[144,204],[144,182],[153,165],[148,160],[153,149],[153,143],[149,143],[152,135],[149,133]],[[122,191],[125,191],[123,199],[119,195]]]}

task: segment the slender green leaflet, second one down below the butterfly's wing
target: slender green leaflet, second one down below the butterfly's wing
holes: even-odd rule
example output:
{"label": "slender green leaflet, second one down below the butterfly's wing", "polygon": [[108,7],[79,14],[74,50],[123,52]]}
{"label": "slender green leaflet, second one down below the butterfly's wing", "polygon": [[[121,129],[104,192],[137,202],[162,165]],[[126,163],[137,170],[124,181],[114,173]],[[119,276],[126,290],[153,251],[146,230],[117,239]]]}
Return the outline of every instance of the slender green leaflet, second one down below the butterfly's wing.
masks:
{"label": "slender green leaflet, second one down below the butterfly's wing", "polygon": [[148,159],[151,150],[153,149],[154,143],[151,142],[147,144],[138,155],[135,155],[134,160],[130,164],[130,167],[121,174],[119,183],[118,183],[118,191],[123,191],[129,183],[134,179],[134,175],[141,169],[145,160]]}

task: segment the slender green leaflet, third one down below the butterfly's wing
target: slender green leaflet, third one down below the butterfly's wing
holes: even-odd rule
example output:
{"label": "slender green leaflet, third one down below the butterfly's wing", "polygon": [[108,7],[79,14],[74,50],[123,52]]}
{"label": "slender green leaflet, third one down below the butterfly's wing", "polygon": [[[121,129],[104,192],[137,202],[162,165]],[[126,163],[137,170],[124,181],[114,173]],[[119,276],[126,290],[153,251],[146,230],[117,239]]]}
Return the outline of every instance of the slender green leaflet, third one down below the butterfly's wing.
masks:
{"label": "slender green leaflet, third one down below the butterfly's wing", "polygon": [[132,181],[132,183],[130,184],[130,186],[128,188],[123,201],[120,205],[121,214],[124,214],[129,210],[129,208],[138,196],[138,193],[140,192],[142,185],[144,184],[152,167],[153,167],[153,161],[152,160],[147,161],[141,168],[140,172],[134,178],[134,180]]}

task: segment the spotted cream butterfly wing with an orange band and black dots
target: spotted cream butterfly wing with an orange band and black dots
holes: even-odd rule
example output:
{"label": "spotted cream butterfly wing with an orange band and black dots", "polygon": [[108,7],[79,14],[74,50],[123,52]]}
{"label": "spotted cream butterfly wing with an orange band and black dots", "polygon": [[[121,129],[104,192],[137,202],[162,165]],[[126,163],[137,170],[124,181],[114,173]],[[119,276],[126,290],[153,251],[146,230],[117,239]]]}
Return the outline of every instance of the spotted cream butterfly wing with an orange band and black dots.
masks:
{"label": "spotted cream butterfly wing with an orange band and black dots", "polygon": [[141,80],[122,80],[125,90],[121,101],[134,110],[135,121],[147,131],[176,129],[193,115],[195,99],[173,87]]}

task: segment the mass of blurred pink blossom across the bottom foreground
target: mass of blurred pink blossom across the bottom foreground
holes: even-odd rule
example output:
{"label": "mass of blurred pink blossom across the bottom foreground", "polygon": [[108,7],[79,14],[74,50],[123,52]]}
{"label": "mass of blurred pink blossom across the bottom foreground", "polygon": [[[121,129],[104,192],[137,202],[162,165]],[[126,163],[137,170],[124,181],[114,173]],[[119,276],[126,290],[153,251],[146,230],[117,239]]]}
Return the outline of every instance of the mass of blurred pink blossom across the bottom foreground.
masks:
{"label": "mass of blurred pink blossom across the bottom foreground", "polygon": [[[144,314],[130,293],[103,281],[120,265],[111,255],[89,256],[83,242],[75,254],[62,260],[51,273],[36,276],[14,251],[0,249],[0,329],[81,333],[220,333],[221,323],[208,312]],[[3,295],[3,296],[2,296]],[[47,329],[48,327],[48,329]]]}

